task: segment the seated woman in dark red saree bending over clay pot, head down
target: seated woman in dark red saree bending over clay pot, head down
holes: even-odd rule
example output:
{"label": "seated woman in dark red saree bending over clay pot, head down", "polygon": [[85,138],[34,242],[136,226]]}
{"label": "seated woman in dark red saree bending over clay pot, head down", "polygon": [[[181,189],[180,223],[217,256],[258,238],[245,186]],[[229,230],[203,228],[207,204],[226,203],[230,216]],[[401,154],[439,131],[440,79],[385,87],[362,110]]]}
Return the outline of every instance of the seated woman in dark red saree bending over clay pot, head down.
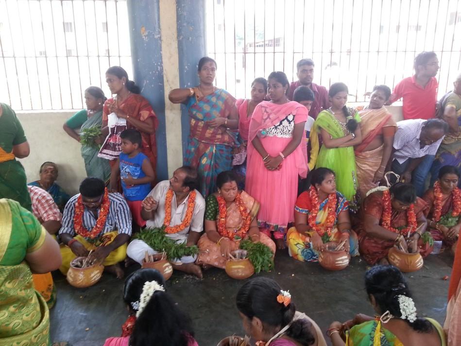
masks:
{"label": "seated woman in dark red saree bending over clay pot, head down", "polygon": [[356,228],[360,255],[370,264],[389,264],[389,249],[399,245],[410,253],[420,247],[421,256],[426,257],[431,248],[420,240],[427,228],[426,208],[411,184],[397,183],[389,190],[370,193],[363,201]]}

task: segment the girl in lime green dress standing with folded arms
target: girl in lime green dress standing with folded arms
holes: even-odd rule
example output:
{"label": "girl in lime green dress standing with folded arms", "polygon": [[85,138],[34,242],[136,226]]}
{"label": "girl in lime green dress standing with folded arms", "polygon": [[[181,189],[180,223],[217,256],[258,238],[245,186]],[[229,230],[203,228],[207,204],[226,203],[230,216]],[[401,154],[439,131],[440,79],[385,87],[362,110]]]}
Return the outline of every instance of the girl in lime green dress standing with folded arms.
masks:
{"label": "girl in lime green dress standing with folded arms", "polygon": [[331,107],[317,116],[311,136],[319,135],[322,147],[315,168],[325,167],[336,173],[336,188],[355,207],[357,171],[354,145],[362,142],[356,109],[346,107],[349,90],[344,83],[331,85],[328,96]]}

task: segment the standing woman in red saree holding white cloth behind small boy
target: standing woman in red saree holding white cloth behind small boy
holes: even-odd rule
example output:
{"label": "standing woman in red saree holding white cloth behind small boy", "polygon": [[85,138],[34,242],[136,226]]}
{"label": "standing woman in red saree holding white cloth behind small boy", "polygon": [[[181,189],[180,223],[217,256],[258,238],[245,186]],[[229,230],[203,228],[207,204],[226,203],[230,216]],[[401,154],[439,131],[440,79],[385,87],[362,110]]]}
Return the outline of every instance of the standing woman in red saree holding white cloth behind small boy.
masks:
{"label": "standing woman in red saree holding white cloth behind small boy", "polygon": [[127,128],[135,128],[141,133],[141,152],[149,157],[155,172],[158,120],[154,110],[149,101],[139,95],[139,87],[128,79],[128,74],[120,66],[112,66],[105,75],[111,93],[116,96],[107,99],[102,108],[102,134],[107,137],[98,156],[114,165],[121,153],[120,133]]}

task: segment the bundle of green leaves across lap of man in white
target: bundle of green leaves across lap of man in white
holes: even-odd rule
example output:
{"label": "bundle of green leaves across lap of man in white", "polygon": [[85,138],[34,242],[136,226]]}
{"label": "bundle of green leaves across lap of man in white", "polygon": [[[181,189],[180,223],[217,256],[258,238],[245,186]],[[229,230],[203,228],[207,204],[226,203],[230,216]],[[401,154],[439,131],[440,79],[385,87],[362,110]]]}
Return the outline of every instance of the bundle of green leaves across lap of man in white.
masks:
{"label": "bundle of green leaves across lap of man in white", "polygon": [[165,252],[169,260],[180,259],[184,256],[193,256],[199,253],[197,245],[187,246],[186,243],[178,244],[167,237],[165,227],[145,228],[133,236],[152,247],[155,251]]}

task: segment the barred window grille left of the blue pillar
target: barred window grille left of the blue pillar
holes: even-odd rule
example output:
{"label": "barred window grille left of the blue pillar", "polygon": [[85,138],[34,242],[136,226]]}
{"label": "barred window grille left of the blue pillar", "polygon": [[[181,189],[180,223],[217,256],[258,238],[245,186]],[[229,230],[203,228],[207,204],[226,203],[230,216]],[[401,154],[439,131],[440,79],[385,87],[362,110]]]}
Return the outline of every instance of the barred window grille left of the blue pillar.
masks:
{"label": "barred window grille left of the blue pillar", "polygon": [[126,0],[0,0],[0,101],[15,110],[85,108],[105,71],[133,76]]}

